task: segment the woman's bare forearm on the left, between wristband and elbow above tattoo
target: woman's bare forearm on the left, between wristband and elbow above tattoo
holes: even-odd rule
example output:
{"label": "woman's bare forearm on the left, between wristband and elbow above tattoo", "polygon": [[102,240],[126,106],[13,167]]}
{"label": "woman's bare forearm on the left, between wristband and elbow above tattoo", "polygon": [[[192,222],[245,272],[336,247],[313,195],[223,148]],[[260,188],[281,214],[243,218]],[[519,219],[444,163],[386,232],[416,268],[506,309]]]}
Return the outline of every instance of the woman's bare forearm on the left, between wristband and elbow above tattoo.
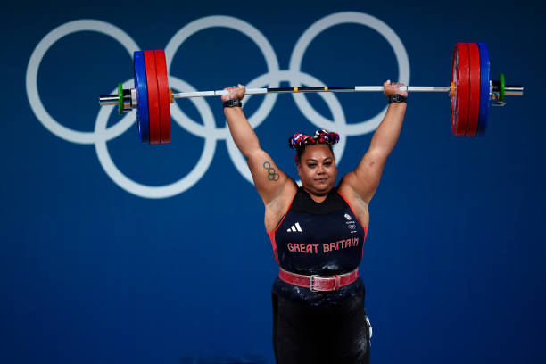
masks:
{"label": "woman's bare forearm on the left, between wristband and elbow above tattoo", "polygon": [[248,120],[246,120],[243,109],[240,107],[225,107],[224,114],[226,115],[231,136],[241,153],[248,158],[253,152],[260,151],[258,136],[256,136]]}

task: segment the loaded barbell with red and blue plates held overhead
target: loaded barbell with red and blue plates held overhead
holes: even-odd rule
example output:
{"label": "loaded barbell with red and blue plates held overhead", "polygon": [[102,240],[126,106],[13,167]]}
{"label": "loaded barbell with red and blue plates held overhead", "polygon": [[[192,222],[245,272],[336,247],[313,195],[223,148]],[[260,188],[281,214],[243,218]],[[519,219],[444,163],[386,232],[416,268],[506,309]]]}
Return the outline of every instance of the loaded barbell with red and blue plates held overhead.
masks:
{"label": "loaded barbell with red and blue plates held overhead", "polygon": [[[118,105],[118,112],[136,109],[141,143],[170,143],[170,103],[175,99],[226,95],[227,91],[196,91],[174,94],[169,88],[167,62],[162,50],[136,51],[135,87],[117,95],[101,95],[99,103]],[[443,92],[451,99],[451,130],[454,136],[483,136],[489,107],[504,106],[506,96],[523,95],[523,86],[505,85],[504,74],[490,79],[489,51],[485,43],[457,43],[451,59],[451,83],[447,87],[404,86],[408,92]],[[383,86],[247,88],[245,95],[309,92],[383,92]]]}

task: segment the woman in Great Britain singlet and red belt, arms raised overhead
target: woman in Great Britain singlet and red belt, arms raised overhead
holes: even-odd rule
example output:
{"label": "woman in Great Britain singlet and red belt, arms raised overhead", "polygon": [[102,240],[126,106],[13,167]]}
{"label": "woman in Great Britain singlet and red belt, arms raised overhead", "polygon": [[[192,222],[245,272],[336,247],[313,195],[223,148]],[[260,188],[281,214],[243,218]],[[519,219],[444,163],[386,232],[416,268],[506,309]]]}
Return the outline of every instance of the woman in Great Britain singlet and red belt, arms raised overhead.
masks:
{"label": "woman in Great Britain singlet and red belt, arms raised overhead", "polygon": [[244,117],[244,87],[222,96],[231,136],[246,157],[265,204],[265,227],[280,267],[273,284],[273,348],[277,364],[368,363],[369,326],[358,267],[368,233],[368,204],[393,150],[406,112],[402,84],[386,81],[384,120],[356,170],[335,185],[332,145],[318,130],[289,139],[302,186],[261,149]]}

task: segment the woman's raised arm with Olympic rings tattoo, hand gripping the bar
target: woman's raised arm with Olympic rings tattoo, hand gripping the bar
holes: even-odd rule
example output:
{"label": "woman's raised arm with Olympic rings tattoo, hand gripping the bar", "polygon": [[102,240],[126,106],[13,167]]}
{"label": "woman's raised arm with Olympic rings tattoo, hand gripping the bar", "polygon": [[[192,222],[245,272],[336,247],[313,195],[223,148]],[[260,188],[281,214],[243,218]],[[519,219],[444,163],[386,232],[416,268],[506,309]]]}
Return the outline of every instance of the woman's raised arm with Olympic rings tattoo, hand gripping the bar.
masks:
{"label": "woman's raised arm with Olympic rings tattoo, hand gripping the bar", "polygon": [[[222,102],[229,99],[243,100],[244,86],[227,87],[228,95],[222,95]],[[261,149],[258,136],[252,129],[240,107],[225,107],[227,126],[237,148],[246,157],[246,162],[252,173],[254,186],[258,190],[266,206],[284,191],[287,183],[293,183],[268,153]]]}

